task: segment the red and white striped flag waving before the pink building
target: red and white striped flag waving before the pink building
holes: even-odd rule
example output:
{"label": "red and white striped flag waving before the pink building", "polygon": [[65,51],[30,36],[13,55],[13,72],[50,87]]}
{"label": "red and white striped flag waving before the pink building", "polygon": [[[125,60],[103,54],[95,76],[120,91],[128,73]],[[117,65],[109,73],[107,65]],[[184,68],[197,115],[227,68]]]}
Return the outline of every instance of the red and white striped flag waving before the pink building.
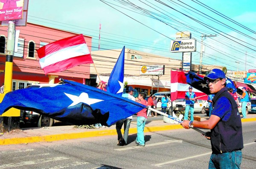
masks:
{"label": "red and white striped flag waving before the pink building", "polygon": [[83,34],[57,40],[36,51],[45,74],[93,63]]}

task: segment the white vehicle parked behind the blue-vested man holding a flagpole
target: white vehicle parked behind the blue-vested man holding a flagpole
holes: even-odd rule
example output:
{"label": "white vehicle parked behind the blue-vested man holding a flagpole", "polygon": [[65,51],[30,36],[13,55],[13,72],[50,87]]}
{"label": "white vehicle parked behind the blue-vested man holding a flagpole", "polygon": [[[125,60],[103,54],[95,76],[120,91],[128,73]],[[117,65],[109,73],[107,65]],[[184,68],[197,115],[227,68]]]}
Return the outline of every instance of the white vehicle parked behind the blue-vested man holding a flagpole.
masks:
{"label": "white vehicle parked behind the blue-vested man holding a flagpole", "polygon": [[[185,99],[177,99],[176,102],[176,109],[177,111],[185,111],[186,108],[186,100]],[[202,114],[206,113],[206,107],[208,105],[208,102],[206,100],[198,100],[194,104],[194,112],[201,112]]]}

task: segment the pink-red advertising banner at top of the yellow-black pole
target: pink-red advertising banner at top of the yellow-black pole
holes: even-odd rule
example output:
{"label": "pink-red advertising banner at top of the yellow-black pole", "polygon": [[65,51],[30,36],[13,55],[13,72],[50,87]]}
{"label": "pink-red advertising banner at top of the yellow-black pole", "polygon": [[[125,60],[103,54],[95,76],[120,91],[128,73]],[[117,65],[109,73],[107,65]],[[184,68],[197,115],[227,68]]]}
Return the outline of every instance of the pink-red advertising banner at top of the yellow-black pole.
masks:
{"label": "pink-red advertising banner at top of the yellow-black pole", "polygon": [[24,0],[0,0],[0,21],[22,19]]}

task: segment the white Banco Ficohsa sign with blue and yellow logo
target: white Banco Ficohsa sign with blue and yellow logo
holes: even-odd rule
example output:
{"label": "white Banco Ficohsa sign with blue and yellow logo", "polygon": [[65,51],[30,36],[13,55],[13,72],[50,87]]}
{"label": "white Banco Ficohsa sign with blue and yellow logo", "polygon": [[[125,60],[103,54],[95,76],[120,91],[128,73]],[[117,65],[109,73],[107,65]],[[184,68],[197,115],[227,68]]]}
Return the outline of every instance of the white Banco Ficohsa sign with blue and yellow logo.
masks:
{"label": "white Banco Ficohsa sign with blue and yellow logo", "polygon": [[196,40],[195,39],[183,39],[171,41],[171,52],[195,52]]}

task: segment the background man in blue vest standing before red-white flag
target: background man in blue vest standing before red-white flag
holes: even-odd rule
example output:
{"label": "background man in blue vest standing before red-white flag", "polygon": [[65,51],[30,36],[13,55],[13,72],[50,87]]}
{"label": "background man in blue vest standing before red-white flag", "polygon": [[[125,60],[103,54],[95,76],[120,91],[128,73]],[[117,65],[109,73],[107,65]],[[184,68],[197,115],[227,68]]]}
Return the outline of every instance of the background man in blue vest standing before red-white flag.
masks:
{"label": "background man in blue vest standing before red-white flag", "polygon": [[189,92],[185,93],[185,100],[186,100],[186,108],[185,108],[185,115],[184,120],[189,118],[189,110],[190,110],[190,118],[191,121],[194,121],[194,104],[195,104],[195,93],[192,92],[193,87],[189,86]]}

